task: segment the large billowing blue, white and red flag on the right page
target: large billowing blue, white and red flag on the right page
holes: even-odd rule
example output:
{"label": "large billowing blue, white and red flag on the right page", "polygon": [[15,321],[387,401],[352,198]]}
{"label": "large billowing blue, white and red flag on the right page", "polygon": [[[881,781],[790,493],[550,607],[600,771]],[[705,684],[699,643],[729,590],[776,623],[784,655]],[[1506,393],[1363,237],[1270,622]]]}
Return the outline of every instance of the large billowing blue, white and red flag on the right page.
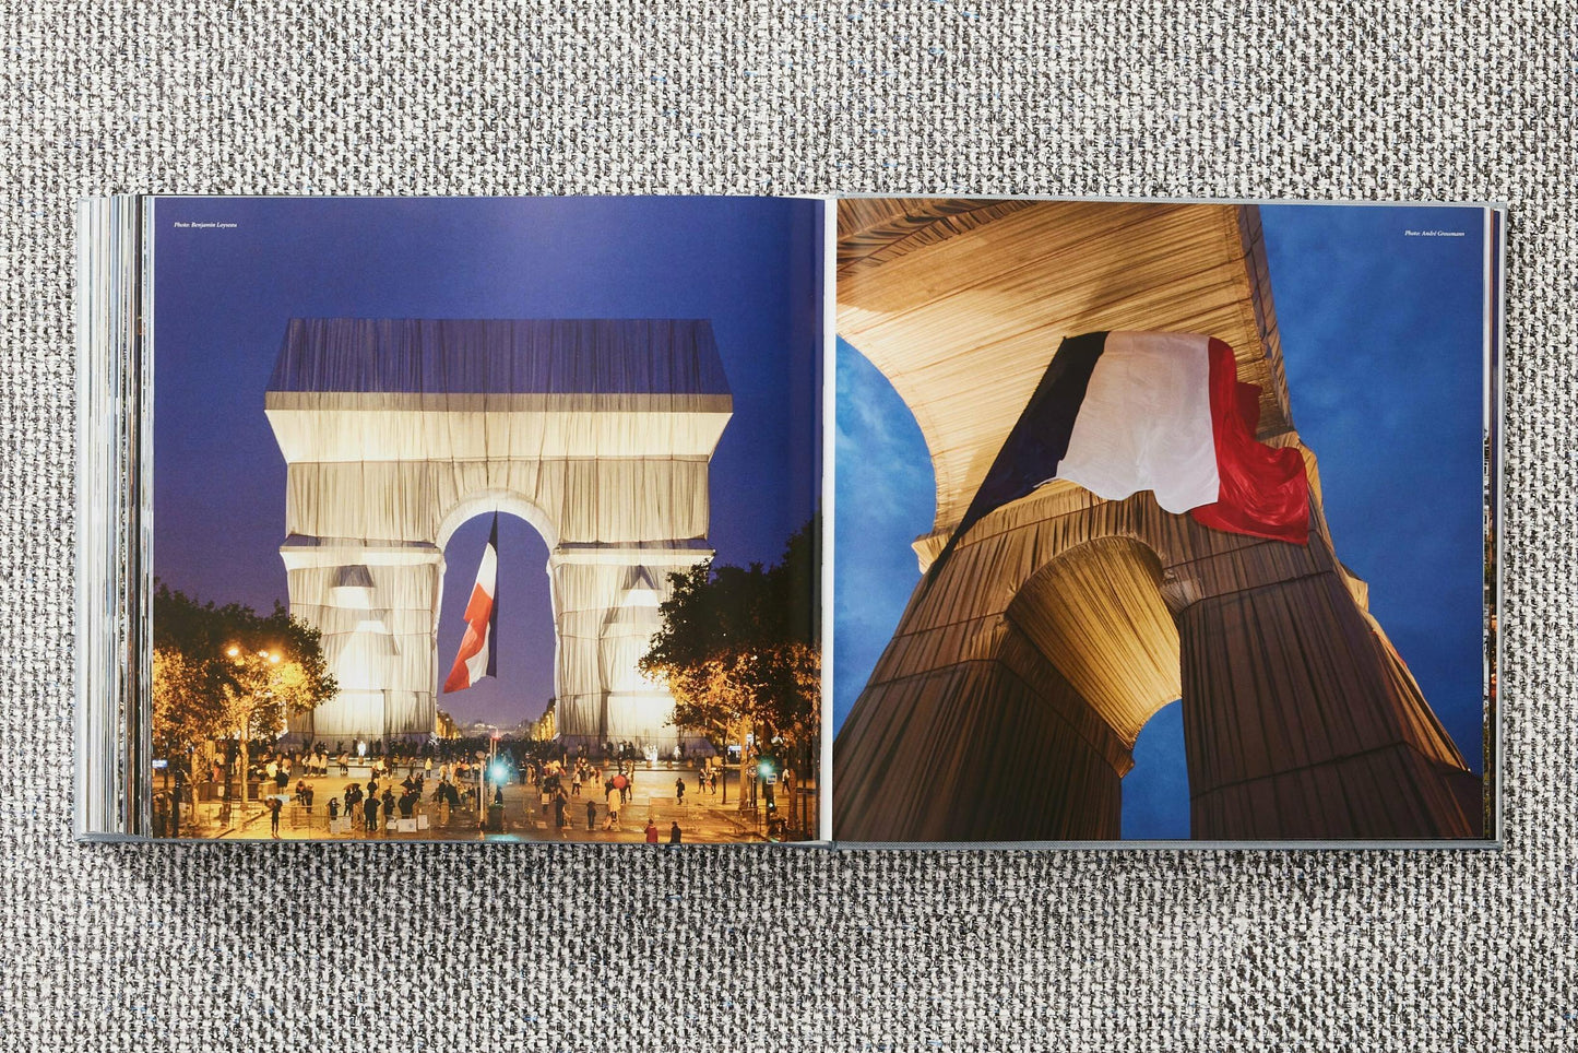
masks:
{"label": "large billowing blue, white and red flag on the right page", "polygon": [[1239,382],[1232,349],[1213,336],[1070,336],[953,537],[1065,478],[1109,500],[1149,489],[1207,527],[1307,545],[1303,456],[1255,439],[1259,393]]}

